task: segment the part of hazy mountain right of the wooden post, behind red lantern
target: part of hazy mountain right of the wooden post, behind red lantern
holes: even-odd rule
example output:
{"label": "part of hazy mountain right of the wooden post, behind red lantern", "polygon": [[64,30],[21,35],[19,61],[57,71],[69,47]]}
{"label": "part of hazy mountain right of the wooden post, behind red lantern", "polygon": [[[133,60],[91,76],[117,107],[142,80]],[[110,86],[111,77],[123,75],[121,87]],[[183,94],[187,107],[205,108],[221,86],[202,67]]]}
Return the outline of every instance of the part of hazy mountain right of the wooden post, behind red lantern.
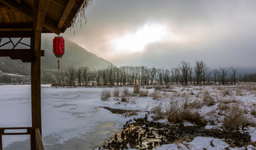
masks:
{"label": "part of hazy mountain right of the wooden post, behind red lantern", "polygon": [[[58,70],[58,58],[55,58],[53,54],[53,39],[43,38],[42,49],[45,50],[45,56],[42,57],[42,68]],[[60,69],[66,70],[71,65],[75,68],[88,66],[92,70],[97,70],[107,68],[112,63],[65,38],[65,54],[60,58]]]}

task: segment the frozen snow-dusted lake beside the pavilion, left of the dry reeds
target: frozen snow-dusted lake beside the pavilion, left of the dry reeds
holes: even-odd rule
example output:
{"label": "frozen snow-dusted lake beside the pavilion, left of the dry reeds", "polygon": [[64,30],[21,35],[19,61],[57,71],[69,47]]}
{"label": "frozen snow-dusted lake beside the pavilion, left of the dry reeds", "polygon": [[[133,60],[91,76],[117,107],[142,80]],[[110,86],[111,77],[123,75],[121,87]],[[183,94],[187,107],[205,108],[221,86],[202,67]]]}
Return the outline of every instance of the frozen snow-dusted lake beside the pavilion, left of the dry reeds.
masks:
{"label": "frozen snow-dusted lake beside the pavilion, left of the dry reeds", "polygon": [[[102,88],[42,87],[46,149],[94,149],[127,120],[102,106]],[[31,86],[0,86],[0,127],[31,127]],[[29,136],[3,136],[5,149],[29,149]]]}

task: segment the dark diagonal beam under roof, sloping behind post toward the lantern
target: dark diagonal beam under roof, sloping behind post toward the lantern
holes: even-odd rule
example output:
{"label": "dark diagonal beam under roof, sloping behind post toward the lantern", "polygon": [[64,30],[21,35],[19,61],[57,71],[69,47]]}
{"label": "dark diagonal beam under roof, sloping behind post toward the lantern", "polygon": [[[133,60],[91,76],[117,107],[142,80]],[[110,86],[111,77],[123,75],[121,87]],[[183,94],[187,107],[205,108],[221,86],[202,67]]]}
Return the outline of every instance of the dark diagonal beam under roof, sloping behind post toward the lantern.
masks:
{"label": "dark diagonal beam under roof, sloping behind post toward the lantern", "polygon": [[[31,9],[30,6],[18,4],[16,1],[13,1],[13,0],[0,0],[0,2],[5,4],[6,6],[9,6],[11,9],[16,9],[22,14],[25,14],[29,18],[33,19],[33,13],[31,13],[33,12],[33,9]],[[44,26],[48,28],[49,31],[52,31],[53,33],[56,33],[56,34],[60,34],[60,29],[55,26],[55,23],[53,23],[53,21],[46,19]]]}

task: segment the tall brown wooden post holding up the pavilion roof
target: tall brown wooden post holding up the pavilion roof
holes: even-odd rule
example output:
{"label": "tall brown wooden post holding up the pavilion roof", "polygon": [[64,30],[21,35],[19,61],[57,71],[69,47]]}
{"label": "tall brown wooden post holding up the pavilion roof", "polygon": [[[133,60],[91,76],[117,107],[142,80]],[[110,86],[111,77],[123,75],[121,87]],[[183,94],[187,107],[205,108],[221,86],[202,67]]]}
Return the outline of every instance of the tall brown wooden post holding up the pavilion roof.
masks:
{"label": "tall brown wooden post holding up the pavilion roof", "polygon": [[33,1],[33,37],[31,48],[34,60],[31,63],[31,104],[32,104],[32,134],[31,150],[36,150],[36,128],[42,135],[41,127],[41,33],[46,18],[49,0]]}

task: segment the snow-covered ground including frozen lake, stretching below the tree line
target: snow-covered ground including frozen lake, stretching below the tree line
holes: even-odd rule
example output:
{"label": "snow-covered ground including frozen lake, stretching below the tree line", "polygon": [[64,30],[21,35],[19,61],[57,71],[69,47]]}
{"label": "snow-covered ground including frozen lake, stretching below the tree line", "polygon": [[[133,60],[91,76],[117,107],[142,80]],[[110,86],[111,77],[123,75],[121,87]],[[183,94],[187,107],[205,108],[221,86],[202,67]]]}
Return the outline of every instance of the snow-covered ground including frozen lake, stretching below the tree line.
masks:
{"label": "snow-covered ground including frozen lake, stretching below the tree line", "polygon": [[[129,97],[122,96],[101,100],[102,90],[129,90]],[[141,87],[142,89],[142,87]],[[235,147],[224,139],[197,136],[193,141],[178,141],[157,149],[255,149],[256,141],[256,86],[242,84],[233,86],[170,86],[142,89],[144,93],[134,94],[133,87],[90,87],[55,88],[42,87],[42,128],[43,144],[46,149],[95,149],[102,146],[106,139],[118,132],[129,119],[144,117],[148,112],[149,120],[164,114],[170,102],[193,107],[207,122],[205,129],[226,130],[228,117],[235,112],[243,127],[250,134],[251,143]],[[0,127],[31,127],[31,87],[29,85],[0,86]],[[112,114],[102,107],[138,110],[137,115]],[[161,107],[163,113],[154,112]],[[166,122],[167,118],[157,119]],[[242,123],[238,124],[239,129]],[[225,124],[223,124],[225,122]],[[196,126],[184,121],[184,126]],[[249,124],[249,125],[248,125]],[[29,136],[4,136],[4,149],[29,149]]]}

